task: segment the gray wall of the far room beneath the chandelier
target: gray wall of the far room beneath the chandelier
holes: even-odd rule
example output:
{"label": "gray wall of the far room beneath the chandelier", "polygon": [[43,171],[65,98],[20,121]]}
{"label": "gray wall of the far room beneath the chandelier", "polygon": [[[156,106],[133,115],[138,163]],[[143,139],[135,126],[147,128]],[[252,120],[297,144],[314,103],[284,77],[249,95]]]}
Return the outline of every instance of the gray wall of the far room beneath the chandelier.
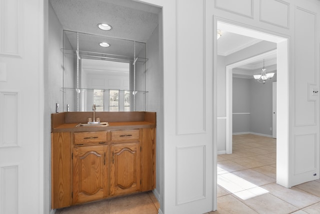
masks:
{"label": "gray wall of the far room beneath the chandelier", "polygon": [[[272,135],[272,82],[232,78],[232,132]],[[250,114],[234,114],[250,113]]]}

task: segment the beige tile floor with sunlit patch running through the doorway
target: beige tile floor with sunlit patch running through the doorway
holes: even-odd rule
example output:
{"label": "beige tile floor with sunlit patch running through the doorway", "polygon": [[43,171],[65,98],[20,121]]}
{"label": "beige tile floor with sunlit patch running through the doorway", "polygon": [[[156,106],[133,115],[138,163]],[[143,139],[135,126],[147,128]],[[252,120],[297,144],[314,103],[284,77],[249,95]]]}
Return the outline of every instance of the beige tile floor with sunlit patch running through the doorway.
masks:
{"label": "beige tile floor with sunlit patch running through the doorway", "polygon": [[276,141],[234,135],[232,154],[218,155],[217,213],[320,213],[320,180],[284,188],[275,182]]}

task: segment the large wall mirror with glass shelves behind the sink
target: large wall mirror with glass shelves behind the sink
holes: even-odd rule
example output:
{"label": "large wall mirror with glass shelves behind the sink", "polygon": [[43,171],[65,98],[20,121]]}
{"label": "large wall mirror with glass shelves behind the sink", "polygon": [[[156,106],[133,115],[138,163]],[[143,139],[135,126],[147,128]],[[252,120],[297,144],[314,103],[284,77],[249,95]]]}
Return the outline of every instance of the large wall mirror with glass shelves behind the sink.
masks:
{"label": "large wall mirror with glass shelves behind the sink", "polygon": [[63,31],[63,111],[145,111],[145,43]]}

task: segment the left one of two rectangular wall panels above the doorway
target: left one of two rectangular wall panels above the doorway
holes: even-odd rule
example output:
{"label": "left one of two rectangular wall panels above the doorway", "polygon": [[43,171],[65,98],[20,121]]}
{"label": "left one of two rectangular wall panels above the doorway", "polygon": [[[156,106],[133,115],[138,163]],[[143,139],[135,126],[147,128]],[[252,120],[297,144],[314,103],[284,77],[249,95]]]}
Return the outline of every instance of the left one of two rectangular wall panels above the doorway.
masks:
{"label": "left one of two rectangular wall panels above the doorway", "polygon": [[253,0],[215,0],[214,8],[253,19]]}

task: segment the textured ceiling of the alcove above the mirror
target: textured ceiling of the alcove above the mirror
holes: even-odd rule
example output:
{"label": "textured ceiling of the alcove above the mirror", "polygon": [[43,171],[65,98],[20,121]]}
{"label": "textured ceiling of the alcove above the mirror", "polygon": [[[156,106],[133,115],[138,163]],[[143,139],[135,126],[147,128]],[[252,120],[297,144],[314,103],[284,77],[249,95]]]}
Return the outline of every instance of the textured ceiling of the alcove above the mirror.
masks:
{"label": "textured ceiling of the alcove above the mirror", "polygon": [[[128,0],[50,0],[64,30],[146,42],[158,25],[160,8]],[[97,24],[107,23],[111,31]]]}

